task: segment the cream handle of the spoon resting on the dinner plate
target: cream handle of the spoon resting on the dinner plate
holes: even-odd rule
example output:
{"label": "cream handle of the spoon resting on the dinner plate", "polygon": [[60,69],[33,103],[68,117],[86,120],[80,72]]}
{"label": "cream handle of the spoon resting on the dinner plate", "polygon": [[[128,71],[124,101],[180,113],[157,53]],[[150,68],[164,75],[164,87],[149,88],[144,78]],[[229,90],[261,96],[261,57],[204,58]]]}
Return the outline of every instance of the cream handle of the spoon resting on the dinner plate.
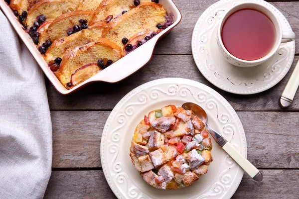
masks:
{"label": "cream handle of the spoon resting on the dinner plate", "polygon": [[222,148],[244,169],[245,172],[249,174],[251,178],[253,178],[253,180],[258,182],[263,180],[262,173],[251,164],[251,162],[244,158],[229,142],[226,142]]}

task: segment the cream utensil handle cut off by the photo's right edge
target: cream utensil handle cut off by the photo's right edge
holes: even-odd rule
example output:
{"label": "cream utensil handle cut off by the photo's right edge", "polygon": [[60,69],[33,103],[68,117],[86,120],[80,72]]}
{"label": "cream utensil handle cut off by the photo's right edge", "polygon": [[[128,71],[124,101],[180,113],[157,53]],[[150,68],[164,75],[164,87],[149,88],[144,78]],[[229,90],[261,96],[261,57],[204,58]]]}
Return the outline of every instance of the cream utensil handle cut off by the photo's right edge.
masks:
{"label": "cream utensil handle cut off by the photo's right edge", "polygon": [[283,97],[293,100],[299,86],[299,62],[297,62],[295,69],[287,83],[283,92]]}

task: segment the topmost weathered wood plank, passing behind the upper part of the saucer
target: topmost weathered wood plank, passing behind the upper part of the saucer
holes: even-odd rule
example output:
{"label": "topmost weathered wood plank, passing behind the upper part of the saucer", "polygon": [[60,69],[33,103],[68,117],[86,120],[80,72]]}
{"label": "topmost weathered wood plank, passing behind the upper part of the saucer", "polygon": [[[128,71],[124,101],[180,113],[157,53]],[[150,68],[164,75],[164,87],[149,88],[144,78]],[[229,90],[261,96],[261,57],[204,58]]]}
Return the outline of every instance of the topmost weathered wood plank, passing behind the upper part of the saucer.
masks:
{"label": "topmost weathered wood plank, passing behind the upper part of the saucer", "polygon": [[[210,5],[218,0],[173,0],[182,13],[181,22],[158,42],[155,54],[191,54],[191,37],[193,28],[202,14]],[[282,1],[282,0],[280,0]],[[271,2],[288,19],[293,31],[299,35],[299,2]],[[296,38],[298,43],[299,37]],[[296,46],[296,53],[299,53],[299,46]]]}

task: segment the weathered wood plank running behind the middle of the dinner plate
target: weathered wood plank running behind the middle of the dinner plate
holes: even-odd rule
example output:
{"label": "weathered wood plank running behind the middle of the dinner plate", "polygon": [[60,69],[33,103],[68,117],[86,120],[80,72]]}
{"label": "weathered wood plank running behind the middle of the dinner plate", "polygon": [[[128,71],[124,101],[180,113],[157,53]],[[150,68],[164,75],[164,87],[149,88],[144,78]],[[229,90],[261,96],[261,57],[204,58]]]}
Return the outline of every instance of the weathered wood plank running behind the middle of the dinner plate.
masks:
{"label": "weathered wood plank running behind the middle of the dinner plate", "polygon": [[[248,159],[259,168],[299,168],[297,112],[237,112]],[[110,111],[51,111],[53,168],[101,167],[100,143]],[[129,150],[129,149],[128,149]]]}

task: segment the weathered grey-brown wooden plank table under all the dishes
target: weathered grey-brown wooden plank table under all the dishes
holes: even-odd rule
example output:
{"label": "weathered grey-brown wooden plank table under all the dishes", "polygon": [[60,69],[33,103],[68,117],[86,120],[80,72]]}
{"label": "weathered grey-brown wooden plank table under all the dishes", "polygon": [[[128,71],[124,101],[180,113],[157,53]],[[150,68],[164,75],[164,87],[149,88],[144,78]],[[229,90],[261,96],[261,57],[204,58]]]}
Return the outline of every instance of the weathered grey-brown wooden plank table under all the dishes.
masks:
{"label": "weathered grey-brown wooden plank table under all the dishes", "polygon": [[246,133],[248,159],[263,172],[264,181],[254,182],[244,174],[233,198],[299,199],[299,92],[290,108],[283,110],[279,106],[280,95],[299,59],[299,2],[271,2],[297,34],[293,67],[272,89],[239,96],[210,84],[198,71],[191,53],[193,27],[201,13],[216,1],[174,0],[183,15],[180,24],[158,42],[149,64],[117,84],[93,83],[61,96],[46,80],[53,124],[52,175],[46,199],[116,198],[101,167],[100,143],[106,119],[128,92],[167,77],[201,82],[224,96],[237,111]]}

